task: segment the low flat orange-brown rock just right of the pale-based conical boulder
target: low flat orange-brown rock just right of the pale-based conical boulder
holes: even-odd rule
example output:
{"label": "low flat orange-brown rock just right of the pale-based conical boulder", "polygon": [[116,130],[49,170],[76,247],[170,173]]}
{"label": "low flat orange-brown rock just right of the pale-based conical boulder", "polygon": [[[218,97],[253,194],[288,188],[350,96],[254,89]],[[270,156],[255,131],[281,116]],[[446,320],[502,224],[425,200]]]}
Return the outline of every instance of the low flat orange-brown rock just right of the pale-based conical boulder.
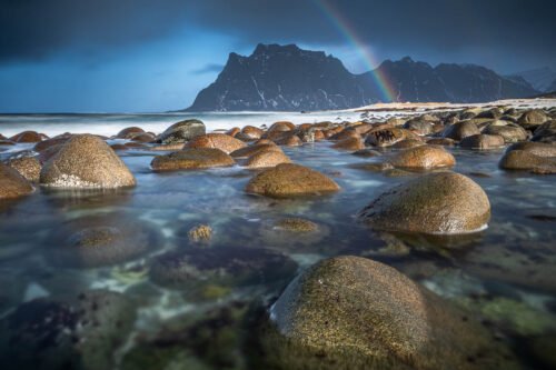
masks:
{"label": "low flat orange-brown rock just right of the pale-based conical boulder", "polygon": [[234,158],[214,148],[186,148],[166,156],[158,156],[150,167],[156,171],[206,169],[236,164]]}

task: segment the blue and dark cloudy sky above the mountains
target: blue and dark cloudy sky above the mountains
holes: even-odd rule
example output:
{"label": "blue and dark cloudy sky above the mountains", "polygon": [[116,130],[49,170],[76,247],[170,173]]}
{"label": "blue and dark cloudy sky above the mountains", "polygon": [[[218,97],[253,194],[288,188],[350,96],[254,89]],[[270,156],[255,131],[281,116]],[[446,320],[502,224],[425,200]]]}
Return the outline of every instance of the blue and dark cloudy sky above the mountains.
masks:
{"label": "blue and dark cloudy sky above the mountains", "polygon": [[259,42],[354,73],[405,56],[556,68],[554,13],[554,0],[0,0],[0,112],[183,109]]}

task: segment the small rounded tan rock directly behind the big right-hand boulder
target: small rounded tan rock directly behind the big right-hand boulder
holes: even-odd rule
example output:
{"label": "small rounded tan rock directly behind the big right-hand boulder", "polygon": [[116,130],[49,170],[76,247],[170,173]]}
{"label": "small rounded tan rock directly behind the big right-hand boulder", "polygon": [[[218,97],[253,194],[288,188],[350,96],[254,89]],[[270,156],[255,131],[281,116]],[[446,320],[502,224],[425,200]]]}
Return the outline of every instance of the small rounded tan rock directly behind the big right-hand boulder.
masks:
{"label": "small rounded tan rock directly behind the big right-hand boulder", "polygon": [[398,168],[433,169],[453,167],[456,159],[441,147],[419,146],[396,152],[388,162]]}

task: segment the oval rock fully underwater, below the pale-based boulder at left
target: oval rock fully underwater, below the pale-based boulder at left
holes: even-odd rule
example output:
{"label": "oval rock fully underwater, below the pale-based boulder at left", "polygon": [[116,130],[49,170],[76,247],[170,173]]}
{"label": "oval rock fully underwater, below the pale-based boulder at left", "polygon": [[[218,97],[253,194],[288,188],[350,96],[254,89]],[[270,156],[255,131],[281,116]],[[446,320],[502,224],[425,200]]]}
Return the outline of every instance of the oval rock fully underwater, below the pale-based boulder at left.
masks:
{"label": "oval rock fully underwater, below the pale-based boulder at left", "polygon": [[149,223],[105,213],[58,226],[47,238],[46,253],[54,266],[95,268],[137,259],[160,243],[160,233]]}

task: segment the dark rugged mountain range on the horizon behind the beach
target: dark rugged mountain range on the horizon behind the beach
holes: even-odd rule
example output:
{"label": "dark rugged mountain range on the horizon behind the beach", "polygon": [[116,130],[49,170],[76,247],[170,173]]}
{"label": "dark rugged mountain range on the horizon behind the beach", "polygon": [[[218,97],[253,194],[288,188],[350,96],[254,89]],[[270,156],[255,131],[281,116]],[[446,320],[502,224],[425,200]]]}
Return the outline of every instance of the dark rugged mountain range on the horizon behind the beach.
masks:
{"label": "dark rugged mountain range on the horizon behind the beach", "polygon": [[254,53],[230,53],[217,80],[201,90],[188,111],[300,111],[346,109],[384,101],[375,76],[385,76],[395,101],[483,102],[533,97],[526,79],[502,77],[475,64],[431,67],[406,57],[374,71],[350,73],[322,51],[295,44],[258,44]]}

